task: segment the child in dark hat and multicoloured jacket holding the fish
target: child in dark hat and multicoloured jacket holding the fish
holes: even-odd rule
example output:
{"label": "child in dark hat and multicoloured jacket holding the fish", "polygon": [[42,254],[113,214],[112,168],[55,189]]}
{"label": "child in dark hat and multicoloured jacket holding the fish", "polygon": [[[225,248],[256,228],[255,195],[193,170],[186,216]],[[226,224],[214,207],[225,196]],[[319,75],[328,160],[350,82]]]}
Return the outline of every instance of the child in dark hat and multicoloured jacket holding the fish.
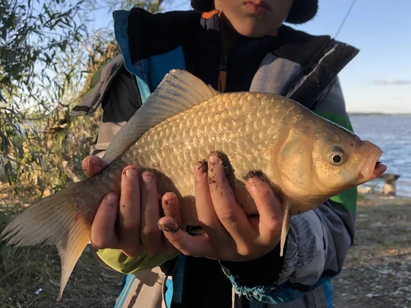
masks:
{"label": "child in dark hat and multicoloured jacket holding the fish", "polygon": [[[173,68],[221,92],[282,94],[352,129],[336,75],[358,50],[283,25],[309,21],[316,0],[193,0],[192,6],[192,12],[114,12],[122,55],[105,65],[72,112],[90,114],[99,104],[104,110],[93,156],[83,162],[86,175],[100,170],[98,157]],[[251,196],[268,204],[274,218],[267,226],[271,239],[256,246],[241,228],[227,227],[238,225],[240,212],[225,219],[215,210],[234,209],[235,200],[210,203],[204,175],[195,177],[197,210],[209,219],[207,247],[196,246],[184,231],[160,231],[161,207],[178,222],[177,198],[165,194],[160,205],[155,178],[140,175],[136,166],[125,168],[121,196],[109,194],[101,203],[90,241],[103,264],[127,274],[116,307],[332,307],[330,279],[340,272],[355,233],[356,188],[292,217],[279,257],[281,205],[271,189],[264,200],[258,198],[266,183],[249,180],[256,184]]]}

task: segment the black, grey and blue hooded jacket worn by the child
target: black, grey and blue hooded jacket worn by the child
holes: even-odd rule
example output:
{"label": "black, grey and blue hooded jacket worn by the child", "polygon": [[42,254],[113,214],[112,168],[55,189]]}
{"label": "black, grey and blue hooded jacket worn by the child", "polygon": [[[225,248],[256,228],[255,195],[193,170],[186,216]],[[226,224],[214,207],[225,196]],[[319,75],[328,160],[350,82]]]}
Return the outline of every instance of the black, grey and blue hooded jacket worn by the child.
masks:
{"label": "black, grey and blue hooded jacket worn by the child", "polygon": [[[92,155],[103,155],[173,68],[186,69],[225,92],[282,94],[352,131],[337,75],[358,49],[283,25],[277,36],[242,38],[224,55],[218,18],[194,11],[114,12],[121,55],[99,70],[95,84],[71,111],[88,115],[103,107]],[[96,257],[127,274],[116,307],[332,307],[331,279],[353,243],[356,200],[357,189],[351,188],[318,209],[293,216],[283,257],[278,247],[247,262],[181,254],[131,258],[113,249],[97,251]]]}

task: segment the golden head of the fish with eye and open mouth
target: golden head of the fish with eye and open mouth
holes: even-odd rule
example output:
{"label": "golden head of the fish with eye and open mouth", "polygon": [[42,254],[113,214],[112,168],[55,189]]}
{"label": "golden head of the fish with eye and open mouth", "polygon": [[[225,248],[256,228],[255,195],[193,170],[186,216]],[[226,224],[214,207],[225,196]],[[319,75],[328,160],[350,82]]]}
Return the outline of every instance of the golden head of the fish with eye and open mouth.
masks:
{"label": "golden head of the fish with eye and open mouth", "polygon": [[377,145],[325,119],[291,129],[272,153],[273,182],[307,207],[380,177],[386,170],[379,163],[383,151]]}

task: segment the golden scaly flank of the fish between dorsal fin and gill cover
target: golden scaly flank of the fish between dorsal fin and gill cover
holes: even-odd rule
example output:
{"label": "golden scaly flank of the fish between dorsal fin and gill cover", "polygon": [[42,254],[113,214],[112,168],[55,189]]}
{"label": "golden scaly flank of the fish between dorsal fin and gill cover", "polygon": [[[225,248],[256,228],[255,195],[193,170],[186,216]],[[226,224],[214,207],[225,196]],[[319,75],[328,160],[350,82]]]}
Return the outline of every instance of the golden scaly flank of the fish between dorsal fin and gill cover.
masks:
{"label": "golden scaly flank of the fish between dorsal fin and gill cover", "polygon": [[[263,154],[273,138],[266,132],[280,123],[271,120],[274,110],[278,110],[277,104],[284,110],[288,107],[266,94],[219,94],[150,129],[121,159],[153,171],[158,177],[160,195],[171,191],[181,196],[194,196],[192,172],[195,163],[207,158],[211,151],[219,150],[229,157],[234,168],[235,193],[244,194],[243,178],[249,171],[267,172],[269,159]],[[279,114],[286,114],[286,111]],[[257,124],[263,121],[269,123],[269,127]],[[182,211],[187,213],[183,222],[198,224],[192,198],[184,201]],[[248,210],[249,203],[239,202]],[[256,208],[250,207],[248,214],[256,214]]]}

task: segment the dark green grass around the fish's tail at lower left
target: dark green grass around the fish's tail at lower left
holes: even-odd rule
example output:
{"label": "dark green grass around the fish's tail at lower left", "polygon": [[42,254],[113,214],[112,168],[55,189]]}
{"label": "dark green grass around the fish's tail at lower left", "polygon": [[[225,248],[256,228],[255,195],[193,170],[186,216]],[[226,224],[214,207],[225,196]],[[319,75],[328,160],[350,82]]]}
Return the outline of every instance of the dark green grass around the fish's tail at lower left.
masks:
{"label": "dark green grass around the fish's tail at lower left", "polygon": [[[19,204],[0,196],[0,230],[21,211]],[[1,308],[114,307],[121,282],[121,274],[102,268],[86,248],[71,274],[62,300],[57,302],[60,259],[55,247],[15,247],[0,242]]]}

